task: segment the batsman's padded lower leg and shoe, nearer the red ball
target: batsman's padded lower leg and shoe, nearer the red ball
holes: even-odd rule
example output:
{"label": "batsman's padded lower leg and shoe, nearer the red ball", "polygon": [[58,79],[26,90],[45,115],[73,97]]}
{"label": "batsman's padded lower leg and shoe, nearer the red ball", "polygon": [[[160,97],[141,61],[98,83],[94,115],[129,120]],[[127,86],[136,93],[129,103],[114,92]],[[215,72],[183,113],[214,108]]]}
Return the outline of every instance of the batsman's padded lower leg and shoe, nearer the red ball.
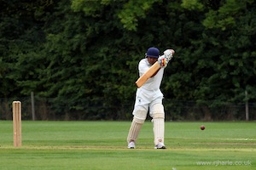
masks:
{"label": "batsman's padded lower leg and shoe, nearer the red ball", "polygon": [[154,145],[155,149],[166,149],[165,140],[165,111],[164,106],[160,103],[152,105],[150,116],[152,116]]}

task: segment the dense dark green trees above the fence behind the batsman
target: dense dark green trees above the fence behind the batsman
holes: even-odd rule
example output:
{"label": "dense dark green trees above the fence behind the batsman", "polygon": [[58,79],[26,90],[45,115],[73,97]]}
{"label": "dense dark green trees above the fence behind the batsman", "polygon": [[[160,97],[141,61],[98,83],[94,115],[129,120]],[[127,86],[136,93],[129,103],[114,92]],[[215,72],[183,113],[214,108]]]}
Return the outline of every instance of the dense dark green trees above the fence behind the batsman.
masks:
{"label": "dense dark green trees above the fence behind the batsman", "polygon": [[166,112],[183,119],[175,105],[192,101],[211,120],[223,113],[216,108],[247,101],[255,107],[253,0],[0,2],[3,100],[33,92],[49,99],[55,114],[125,119],[120,114],[131,114],[137,63],[154,46],[176,50],[161,86],[170,100]]}

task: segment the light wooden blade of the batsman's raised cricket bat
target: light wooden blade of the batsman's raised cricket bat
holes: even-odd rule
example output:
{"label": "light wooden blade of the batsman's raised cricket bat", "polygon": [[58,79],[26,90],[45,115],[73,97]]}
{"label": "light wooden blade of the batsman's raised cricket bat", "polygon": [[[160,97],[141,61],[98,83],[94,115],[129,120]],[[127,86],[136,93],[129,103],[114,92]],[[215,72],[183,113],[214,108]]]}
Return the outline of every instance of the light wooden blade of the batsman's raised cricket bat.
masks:
{"label": "light wooden blade of the batsman's raised cricket bat", "polygon": [[156,71],[160,69],[160,64],[158,61],[152,65],[148,71],[146,71],[143,76],[139,77],[137,81],[135,82],[137,85],[137,88],[141,88],[145,82],[147,82],[148,78],[152,77]]}

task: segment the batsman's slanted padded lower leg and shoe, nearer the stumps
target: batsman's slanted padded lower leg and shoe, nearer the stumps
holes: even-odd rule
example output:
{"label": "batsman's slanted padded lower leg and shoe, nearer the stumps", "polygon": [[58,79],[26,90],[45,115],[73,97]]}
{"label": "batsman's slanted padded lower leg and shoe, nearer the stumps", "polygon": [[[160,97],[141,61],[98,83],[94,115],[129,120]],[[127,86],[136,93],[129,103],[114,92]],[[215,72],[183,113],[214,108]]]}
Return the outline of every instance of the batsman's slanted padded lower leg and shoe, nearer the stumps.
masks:
{"label": "batsman's slanted padded lower leg and shoe, nearer the stumps", "polygon": [[143,123],[147,117],[148,111],[143,107],[136,108],[133,111],[133,120],[131,122],[131,127],[127,136],[128,148],[135,148],[135,144],[137,142],[137,137],[141,128],[143,127]]}

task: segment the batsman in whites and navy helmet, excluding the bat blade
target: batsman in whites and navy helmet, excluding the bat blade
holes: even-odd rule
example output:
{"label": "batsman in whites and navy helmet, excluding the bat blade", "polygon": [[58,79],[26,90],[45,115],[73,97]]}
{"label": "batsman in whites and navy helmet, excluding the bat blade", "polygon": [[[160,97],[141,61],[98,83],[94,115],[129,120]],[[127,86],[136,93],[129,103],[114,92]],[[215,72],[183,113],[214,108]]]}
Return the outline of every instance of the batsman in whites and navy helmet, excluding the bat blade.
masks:
{"label": "batsman in whites and navy helmet, excluding the bat blade", "polygon": [[136,101],[132,111],[133,120],[127,136],[129,149],[134,149],[137,143],[138,134],[146,120],[148,111],[152,117],[154,132],[154,149],[166,149],[165,139],[165,111],[162,104],[163,94],[160,91],[160,83],[163,78],[164,69],[172,59],[174,50],[167,49],[162,56],[158,48],[148,48],[145,58],[138,64],[139,76],[148,71],[148,69],[158,62],[160,68],[154,72],[141,88],[137,88]]}

